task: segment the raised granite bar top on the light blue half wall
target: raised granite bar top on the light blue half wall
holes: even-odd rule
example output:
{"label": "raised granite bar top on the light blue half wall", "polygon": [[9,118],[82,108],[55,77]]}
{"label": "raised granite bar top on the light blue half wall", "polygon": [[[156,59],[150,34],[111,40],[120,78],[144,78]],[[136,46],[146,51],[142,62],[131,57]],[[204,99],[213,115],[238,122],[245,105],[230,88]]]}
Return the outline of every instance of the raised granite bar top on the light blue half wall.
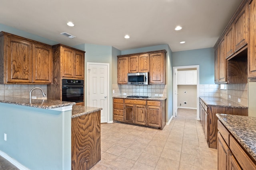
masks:
{"label": "raised granite bar top on the light blue half wall", "polygon": [[40,100],[40,99],[30,99],[29,98],[16,98],[16,97],[6,97],[0,96],[1,103],[7,104],[15,104],[20,106],[28,106],[28,107],[37,107],[41,109],[54,109],[58,107],[64,106],[72,106],[76,103],[74,102],[62,102],[60,100]]}

